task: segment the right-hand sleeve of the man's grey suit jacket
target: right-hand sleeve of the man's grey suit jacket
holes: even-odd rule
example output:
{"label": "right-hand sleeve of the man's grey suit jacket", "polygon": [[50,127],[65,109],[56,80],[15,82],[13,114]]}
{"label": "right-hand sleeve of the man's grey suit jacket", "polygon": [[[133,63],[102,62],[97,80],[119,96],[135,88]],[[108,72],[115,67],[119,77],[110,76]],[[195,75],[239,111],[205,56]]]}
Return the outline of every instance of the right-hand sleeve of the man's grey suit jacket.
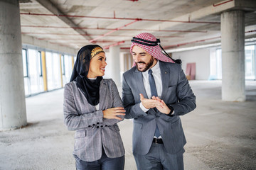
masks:
{"label": "right-hand sleeve of the man's grey suit jacket", "polygon": [[188,80],[181,69],[178,72],[178,84],[176,88],[176,95],[178,97],[178,103],[168,104],[174,108],[174,115],[184,115],[193,111],[196,108],[196,96],[193,94],[191,87],[188,84]]}

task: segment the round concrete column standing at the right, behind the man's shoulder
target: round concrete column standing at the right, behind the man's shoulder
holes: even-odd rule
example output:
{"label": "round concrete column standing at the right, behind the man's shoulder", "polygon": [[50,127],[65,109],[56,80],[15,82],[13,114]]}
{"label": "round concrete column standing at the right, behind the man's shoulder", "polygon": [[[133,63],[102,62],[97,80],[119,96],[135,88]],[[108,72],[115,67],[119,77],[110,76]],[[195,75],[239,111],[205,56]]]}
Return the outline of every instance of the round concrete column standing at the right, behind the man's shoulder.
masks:
{"label": "round concrete column standing at the right, behind the man's shoulder", "polygon": [[245,14],[221,14],[222,99],[245,101]]}

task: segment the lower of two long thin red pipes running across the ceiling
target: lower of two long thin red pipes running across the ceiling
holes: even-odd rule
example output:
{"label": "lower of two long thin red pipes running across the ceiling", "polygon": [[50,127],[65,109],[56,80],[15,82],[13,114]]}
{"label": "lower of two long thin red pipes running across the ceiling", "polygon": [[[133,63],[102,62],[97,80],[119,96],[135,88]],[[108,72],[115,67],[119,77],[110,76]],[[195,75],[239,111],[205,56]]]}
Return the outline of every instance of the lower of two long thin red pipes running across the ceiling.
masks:
{"label": "lower of two long thin red pipes running across the ceiling", "polygon": [[[58,26],[21,26],[28,28],[73,28],[84,30],[116,30],[117,28],[85,28],[85,27],[58,27]],[[135,31],[160,31],[160,32],[178,32],[178,33],[207,33],[207,30],[147,30],[147,29],[122,29]]]}

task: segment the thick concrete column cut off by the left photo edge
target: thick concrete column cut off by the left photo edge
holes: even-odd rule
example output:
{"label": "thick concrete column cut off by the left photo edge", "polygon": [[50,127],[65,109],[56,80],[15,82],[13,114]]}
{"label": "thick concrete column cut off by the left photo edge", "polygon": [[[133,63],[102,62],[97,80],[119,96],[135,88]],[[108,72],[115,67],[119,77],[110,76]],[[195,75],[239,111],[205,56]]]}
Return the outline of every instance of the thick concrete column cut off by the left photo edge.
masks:
{"label": "thick concrete column cut off by the left photo edge", "polygon": [[0,0],[0,130],[27,124],[18,0]]}

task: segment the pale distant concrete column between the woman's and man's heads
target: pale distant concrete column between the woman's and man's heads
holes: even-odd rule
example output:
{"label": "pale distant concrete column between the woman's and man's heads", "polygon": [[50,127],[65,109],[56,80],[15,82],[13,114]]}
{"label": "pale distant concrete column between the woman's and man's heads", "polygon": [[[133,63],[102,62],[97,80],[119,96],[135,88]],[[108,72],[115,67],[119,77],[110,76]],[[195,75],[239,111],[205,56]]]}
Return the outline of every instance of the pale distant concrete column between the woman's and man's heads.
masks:
{"label": "pale distant concrete column between the woman's and man's heads", "polygon": [[117,87],[121,86],[120,75],[120,47],[110,47],[110,55],[107,56],[107,75],[114,80]]}

